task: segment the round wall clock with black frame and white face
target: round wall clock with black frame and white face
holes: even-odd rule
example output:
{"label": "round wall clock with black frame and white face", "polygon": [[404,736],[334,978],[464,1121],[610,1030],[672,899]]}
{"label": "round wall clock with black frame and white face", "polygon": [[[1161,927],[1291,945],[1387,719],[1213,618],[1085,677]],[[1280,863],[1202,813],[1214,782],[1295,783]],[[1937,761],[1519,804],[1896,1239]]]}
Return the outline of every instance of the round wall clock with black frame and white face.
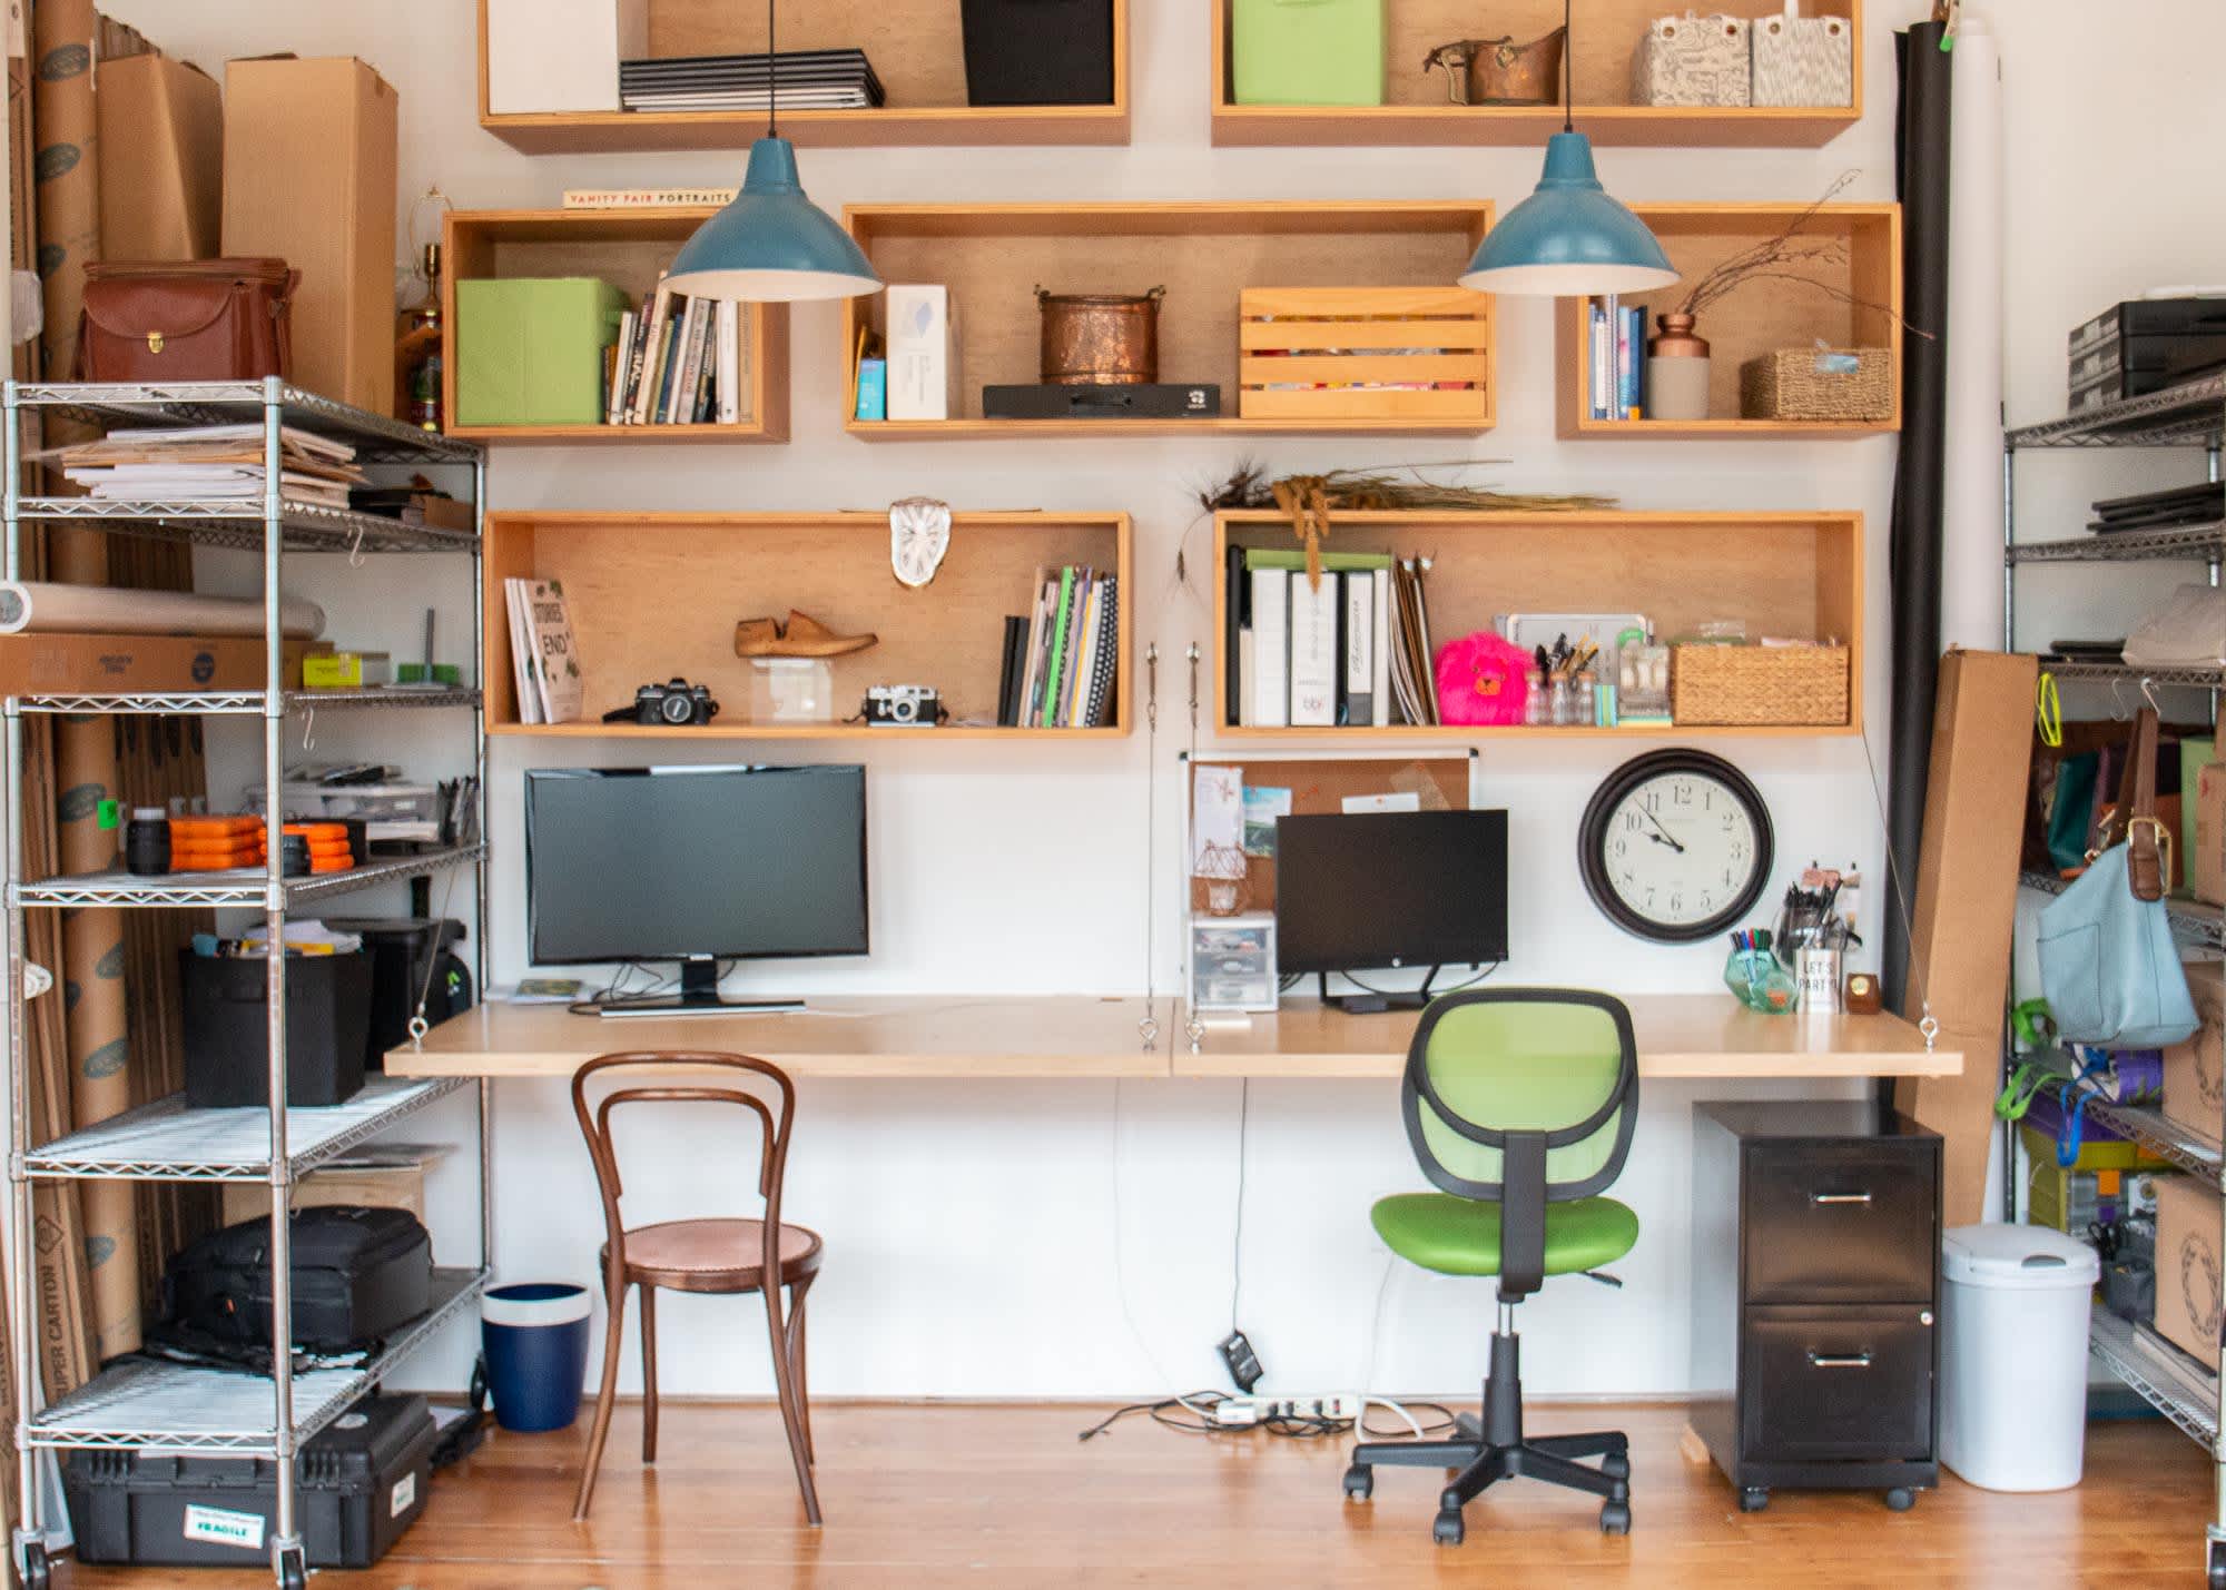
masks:
{"label": "round wall clock with black frame and white face", "polygon": [[1576,835],[1592,902],[1625,933],[1692,944],[1747,917],[1770,882],[1770,808],[1705,750],[1654,750],[1607,775]]}

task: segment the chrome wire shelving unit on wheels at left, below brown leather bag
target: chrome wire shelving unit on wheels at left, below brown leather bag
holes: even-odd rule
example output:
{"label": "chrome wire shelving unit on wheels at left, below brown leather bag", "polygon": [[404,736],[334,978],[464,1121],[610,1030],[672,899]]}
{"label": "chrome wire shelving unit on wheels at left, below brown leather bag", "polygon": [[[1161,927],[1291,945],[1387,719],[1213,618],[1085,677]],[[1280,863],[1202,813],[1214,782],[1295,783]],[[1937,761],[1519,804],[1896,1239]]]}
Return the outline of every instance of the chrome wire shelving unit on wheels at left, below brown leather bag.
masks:
{"label": "chrome wire shelving unit on wheels at left, below brown leather bag", "polygon": [[[265,488],[252,501],[93,501],[82,497],[29,497],[22,492],[22,434],[27,412],[60,414],[109,430],[149,425],[252,423],[260,432]],[[292,1354],[276,1354],[265,1376],[156,1361],[120,1361],[91,1381],[42,1405],[36,1358],[36,1274],[31,1231],[31,1182],[36,1180],[183,1180],[263,1182],[272,1189],[272,1341],[292,1343],[292,1243],[289,1211],[296,1180],[325,1160],[365,1142],[396,1122],[470,1087],[463,1080],[405,1082],[374,1078],[345,1105],[303,1109],[285,1105],[287,1020],[285,955],[269,955],[267,1042],[269,1102],[249,1109],[194,1109],[183,1096],[142,1105],[56,1142],[31,1142],[24,1080],[24,913],[36,909],[176,909],[232,906],[260,911],[269,940],[285,940],[287,917],[327,897],[432,873],[474,873],[474,960],[479,987],[487,980],[487,857],[474,837],[465,844],[374,860],[345,873],[283,877],[263,868],[229,873],[174,873],[136,877],[109,871],[27,880],[22,875],[22,724],[42,713],[111,715],[209,715],[258,717],[263,724],[263,782],[283,784],[289,717],[323,710],[454,710],[470,713],[472,768],[479,775],[481,811],[487,773],[485,706],[476,688],[383,688],[298,690],[283,677],[278,608],[287,554],[323,552],[349,559],[374,552],[450,552],[472,559],[472,652],[481,650],[485,606],[481,586],[481,523],[485,501],[485,457],[479,448],[401,425],[381,414],[334,403],[283,381],[227,381],[180,385],[29,385],[7,383],[7,579],[16,579],[22,530],[33,523],[73,523],[111,534],[167,537],[196,546],[254,552],[263,559],[265,686],[260,690],[118,690],[18,695],[0,701],[4,713],[4,922],[7,922],[7,1060],[9,1060],[9,1231],[13,1234],[11,1303],[16,1327],[16,1385],[20,1414],[16,1445],[20,1463],[22,1517],[13,1521],[11,1550],[20,1583],[42,1590],[47,1561],[47,1488],[38,1476],[42,1450],[107,1447],[178,1454],[234,1454],[272,1459],[278,1470],[276,1519],[269,1537],[272,1572],[283,1590],[307,1581],[298,1517],[296,1454],[349,1403],[372,1390],[407,1354],[459,1318],[485,1287],[492,1252],[492,1205],[487,1198],[490,1089],[476,1084],[479,1138],[479,1260],[461,1269],[436,1269],[432,1307],[394,1332],[361,1363],[296,1367]],[[356,448],[363,463],[407,463],[470,470],[472,528],[414,526],[376,514],[289,501],[280,492],[280,428],[312,430]],[[269,855],[280,855],[283,808],[272,802],[267,817]]]}

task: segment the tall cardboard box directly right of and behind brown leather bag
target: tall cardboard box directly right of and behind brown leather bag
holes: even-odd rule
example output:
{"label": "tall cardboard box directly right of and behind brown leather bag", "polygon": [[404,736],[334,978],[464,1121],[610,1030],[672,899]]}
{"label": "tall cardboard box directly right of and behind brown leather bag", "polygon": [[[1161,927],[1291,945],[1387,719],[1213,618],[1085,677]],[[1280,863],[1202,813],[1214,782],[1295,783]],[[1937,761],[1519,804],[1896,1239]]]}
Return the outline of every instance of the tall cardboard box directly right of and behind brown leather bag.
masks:
{"label": "tall cardboard box directly right of and behind brown leather bag", "polygon": [[394,412],[394,89],[352,56],[225,65],[225,254],[276,254],[294,383]]}

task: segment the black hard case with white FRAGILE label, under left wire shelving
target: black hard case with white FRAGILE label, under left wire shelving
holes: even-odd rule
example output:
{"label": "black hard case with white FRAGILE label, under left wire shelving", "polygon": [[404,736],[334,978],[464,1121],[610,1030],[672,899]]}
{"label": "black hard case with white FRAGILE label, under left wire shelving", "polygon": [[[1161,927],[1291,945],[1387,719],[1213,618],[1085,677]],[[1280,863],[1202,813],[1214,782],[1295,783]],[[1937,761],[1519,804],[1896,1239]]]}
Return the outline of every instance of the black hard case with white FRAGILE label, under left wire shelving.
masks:
{"label": "black hard case with white FRAGILE label, under left wire shelving", "polygon": [[[370,1568],[416,1523],[439,1439],[423,1396],[365,1396],[296,1459],[309,1568]],[[267,1568],[272,1459],[71,1452],[62,1494],[78,1557],[154,1568]]]}

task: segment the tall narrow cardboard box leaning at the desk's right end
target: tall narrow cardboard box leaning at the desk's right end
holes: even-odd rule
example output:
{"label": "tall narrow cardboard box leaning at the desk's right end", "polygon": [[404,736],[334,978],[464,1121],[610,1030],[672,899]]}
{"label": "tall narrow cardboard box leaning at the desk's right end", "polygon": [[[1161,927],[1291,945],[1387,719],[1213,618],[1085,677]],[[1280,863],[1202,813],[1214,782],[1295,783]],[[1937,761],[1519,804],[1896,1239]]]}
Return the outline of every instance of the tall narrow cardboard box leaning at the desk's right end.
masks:
{"label": "tall narrow cardboard box leaning at the desk's right end", "polygon": [[1986,1209],[1986,1151],[2001,1091],[2001,1013],[2017,924],[2017,813],[2026,804],[2037,664],[2010,652],[1941,657],[1917,857],[1910,980],[1901,1011],[1932,1000],[1941,1049],[1961,1076],[1901,1078],[1894,1105],[1941,1133],[1941,1220],[1972,1225]]}

